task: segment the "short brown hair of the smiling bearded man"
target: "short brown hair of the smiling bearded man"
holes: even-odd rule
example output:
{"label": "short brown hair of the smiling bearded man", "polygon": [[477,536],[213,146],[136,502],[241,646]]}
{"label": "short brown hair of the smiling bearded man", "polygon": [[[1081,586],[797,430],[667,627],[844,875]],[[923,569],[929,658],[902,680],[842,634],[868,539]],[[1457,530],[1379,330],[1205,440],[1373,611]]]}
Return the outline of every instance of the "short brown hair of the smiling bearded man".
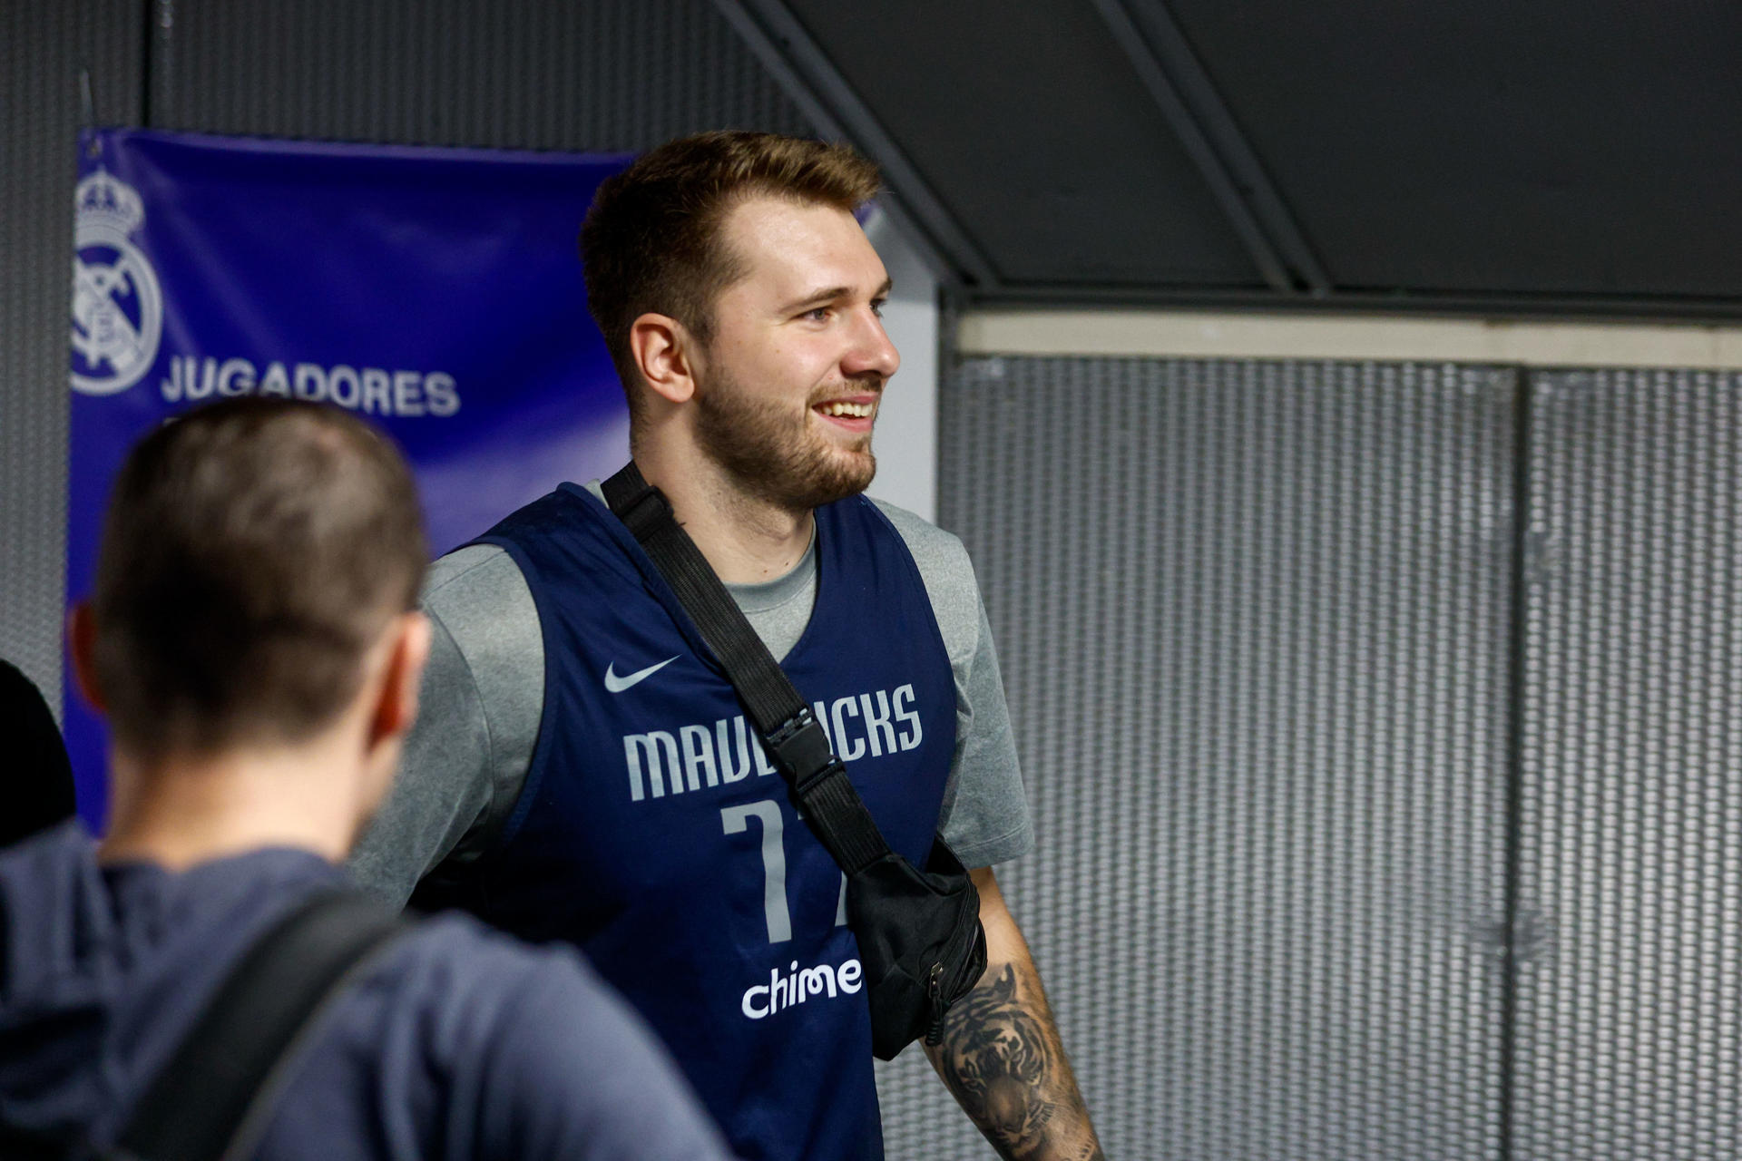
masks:
{"label": "short brown hair of the smiling bearded man", "polygon": [[719,237],[726,212],[751,197],[855,211],[880,186],[878,169],[847,146],[772,132],[716,131],[667,141],[606,178],[580,228],[587,308],[604,334],[631,407],[639,372],[629,325],[671,315],[700,341],[714,298],[744,275]]}

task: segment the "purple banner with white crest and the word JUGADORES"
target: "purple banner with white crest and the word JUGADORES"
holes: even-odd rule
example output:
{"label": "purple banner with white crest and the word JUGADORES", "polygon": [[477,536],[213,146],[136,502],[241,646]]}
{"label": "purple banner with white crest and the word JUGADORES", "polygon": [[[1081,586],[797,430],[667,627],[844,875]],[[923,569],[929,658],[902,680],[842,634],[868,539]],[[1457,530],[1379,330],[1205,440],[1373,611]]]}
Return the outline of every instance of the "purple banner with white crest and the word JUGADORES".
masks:
{"label": "purple banner with white crest and the word JUGADORES", "polygon": [[[315,399],[387,428],[437,552],[629,454],[575,238],[625,155],[80,138],[66,592],[89,595],[127,447],[202,400]],[[66,689],[78,811],[106,740]]]}

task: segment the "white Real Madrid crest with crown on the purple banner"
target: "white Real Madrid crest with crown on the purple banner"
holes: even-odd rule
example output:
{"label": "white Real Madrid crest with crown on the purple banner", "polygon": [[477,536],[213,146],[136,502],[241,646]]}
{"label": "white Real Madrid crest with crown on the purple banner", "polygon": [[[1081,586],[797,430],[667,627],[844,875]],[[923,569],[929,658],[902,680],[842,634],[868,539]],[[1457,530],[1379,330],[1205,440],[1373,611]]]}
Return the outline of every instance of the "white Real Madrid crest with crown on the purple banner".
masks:
{"label": "white Real Madrid crest with crown on the purple banner", "polygon": [[99,169],[73,193],[73,390],[113,395],[145,378],[164,334],[164,292],[129,235],[139,193]]}

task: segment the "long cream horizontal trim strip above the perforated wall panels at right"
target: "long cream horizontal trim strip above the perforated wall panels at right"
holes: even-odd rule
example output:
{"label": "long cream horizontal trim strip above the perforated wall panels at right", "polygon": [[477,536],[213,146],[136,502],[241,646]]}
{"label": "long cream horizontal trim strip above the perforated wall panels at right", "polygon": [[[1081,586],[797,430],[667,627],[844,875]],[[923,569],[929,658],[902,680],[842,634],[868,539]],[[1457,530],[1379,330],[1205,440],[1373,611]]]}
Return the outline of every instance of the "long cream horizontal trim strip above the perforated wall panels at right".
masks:
{"label": "long cream horizontal trim strip above the perforated wall panels at right", "polygon": [[1698,324],[988,308],[962,315],[956,343],[963,355],[1742,369],[1742,327]]}

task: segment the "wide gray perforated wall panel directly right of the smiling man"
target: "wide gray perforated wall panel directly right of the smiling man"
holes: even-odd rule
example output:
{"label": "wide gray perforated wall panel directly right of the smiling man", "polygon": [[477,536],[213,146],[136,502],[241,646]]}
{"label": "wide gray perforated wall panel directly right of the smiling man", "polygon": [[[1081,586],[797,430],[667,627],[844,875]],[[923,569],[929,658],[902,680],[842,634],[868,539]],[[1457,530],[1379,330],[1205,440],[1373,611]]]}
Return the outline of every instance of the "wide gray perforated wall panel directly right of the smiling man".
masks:
{"label": "wide gray perforated wall panel directly right of the smiling man", "polygon": [[[1498,1151],[1510,371],[970,359],[1040,849],[1002,872],[1110,1158]],[[890,1156],[984,1158],[918,1051]]]}

